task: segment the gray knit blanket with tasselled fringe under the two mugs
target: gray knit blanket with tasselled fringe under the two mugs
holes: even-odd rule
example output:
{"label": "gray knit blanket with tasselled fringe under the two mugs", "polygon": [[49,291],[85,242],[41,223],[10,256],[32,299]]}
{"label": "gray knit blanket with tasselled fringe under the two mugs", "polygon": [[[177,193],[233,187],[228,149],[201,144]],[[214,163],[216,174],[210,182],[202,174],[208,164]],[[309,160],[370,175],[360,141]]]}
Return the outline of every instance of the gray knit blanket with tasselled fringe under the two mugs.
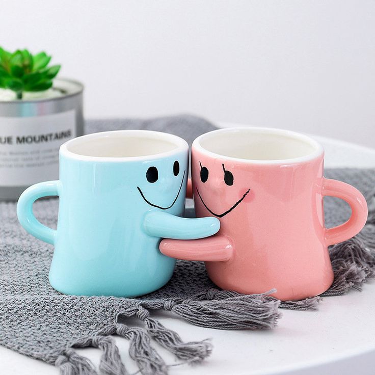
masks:
{"label": "gray knit blanket with tasselled fringe under the two mugs", "polygon": [[[153,120],[89,121],[87,132],[144,128],[174,133],[190,144],[214,127],[193,116]],[[18,353],[58,366],[64,375],[127,374],[112,335],[129,340],[129,355],[144,375],[167,374],[168,366],[153,341],[172,352],[179,362],[197,363],[212,350],[208,340],[184,342],[178,333],[153,317],[153,310],[169,310],[187,322],[225,330],[272,329],[280,308],[318,308],[325,296],[338,296],[375,276],[375,171],[326,170],[326,177],[356,186],[369,204],[365,228],[355,238],[330,249],[335,280],[322,296],[297,302],[280,302],[267,294],[243,295],[221,290],[208,279],[202,262],[177,261],[171,281],[138,299],[65,296],[51,288],[48,270],[52,246],[27,234],[16,217],[16,204],[0,203],[0,344]],[[35,203],[36,217],[56,227],[58,200]],[[328,227],[342,223],[350,208],[335,198],[325,198]],[[302,313],[302,312],[301,312]],[[131,326],[129,317],[142,325]],[[99,369],[74,348],[101,350]]]}

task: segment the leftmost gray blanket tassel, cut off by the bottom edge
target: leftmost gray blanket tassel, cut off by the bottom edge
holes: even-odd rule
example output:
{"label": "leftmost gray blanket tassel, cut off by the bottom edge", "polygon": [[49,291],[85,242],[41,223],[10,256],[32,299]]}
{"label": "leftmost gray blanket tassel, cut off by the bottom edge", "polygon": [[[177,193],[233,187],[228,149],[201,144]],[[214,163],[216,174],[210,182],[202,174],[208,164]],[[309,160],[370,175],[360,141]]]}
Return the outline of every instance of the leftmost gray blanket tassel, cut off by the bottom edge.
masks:
{"label": "leftmost gray blanket tassel, cut off by the bottom edge", "polygon": [[55,366],[59,367],[60,375],[97,375],[93,364],[70,348],[57,358]]}

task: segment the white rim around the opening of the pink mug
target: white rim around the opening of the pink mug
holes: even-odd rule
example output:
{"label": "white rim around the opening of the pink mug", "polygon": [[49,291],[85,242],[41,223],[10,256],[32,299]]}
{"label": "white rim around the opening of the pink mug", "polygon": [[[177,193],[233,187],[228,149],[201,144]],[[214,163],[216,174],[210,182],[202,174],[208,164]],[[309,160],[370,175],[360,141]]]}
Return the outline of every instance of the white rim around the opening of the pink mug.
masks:
{"label": "white rim around the opening of the pink mug", "polygon": [[[201,141],[204,139],[209,138],[214,133],[230,133],[230,132],[239,132],[239,131],[247,131],[247,132],[253,132],[253,133],[266,133],[266,134],[272,134],[272,135],[280,135],[280,136],[286,136],[292,139],[297,139],[299,141],[308,143],[310,146],[314,147],[314,151],[310,152],[303,156],[298,157],[292,157],[292,158],[286,158],[286,159],[246,159],[246,158],[239,158],[239,157],[233,157],[233,156],[227,156],[223,154],[219,154],[216,152],[212,152],[207,150],[201,145]],[[297,164],[297,163],[303,163],[303,162],[309,162],[310,160],[314,160],[317,157],[324,155],[324,148],[323,146],[315,141],[313,138],[303,134],[299,133],[297,131],[292,130],[286,130],[286,129],[278,129],[278,128],[271,128],[271,127],[260,127],[260,126],[238,126],[238,127],[227,127],[223,129],[217,129],[217,130],[211,130],[207,133],[202,134],[201,136],[197,137],[193,144],[192,144],[192,150],[200,151],[203,154],[206,154],[210,157],[216,157],[226,160],[232,160],[233,162],[238,163],[247,163],[247,164],[263,164],[263,165],[275,165],[275,164]]]}

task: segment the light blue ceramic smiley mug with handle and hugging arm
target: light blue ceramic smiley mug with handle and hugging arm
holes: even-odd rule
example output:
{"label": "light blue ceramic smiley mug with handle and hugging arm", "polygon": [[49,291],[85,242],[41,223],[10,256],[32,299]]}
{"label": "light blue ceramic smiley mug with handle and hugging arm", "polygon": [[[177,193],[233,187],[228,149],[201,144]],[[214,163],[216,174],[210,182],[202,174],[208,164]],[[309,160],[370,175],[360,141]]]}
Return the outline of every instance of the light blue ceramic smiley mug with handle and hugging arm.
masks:
{"label": "light blue ceramic smiley mug with handle and hugging arm", "polygon": [[[160,238],[215,234],[216,218],[185,219],[189,146],[148,130],[95,133],[60,147],[60,180],[37,183],[19,198],[21,225],[55,246],[49,271],[66,294],[140,296],[171,278],[175,259]],[[36,220],[33,203],[59,196],[57,230]]]}

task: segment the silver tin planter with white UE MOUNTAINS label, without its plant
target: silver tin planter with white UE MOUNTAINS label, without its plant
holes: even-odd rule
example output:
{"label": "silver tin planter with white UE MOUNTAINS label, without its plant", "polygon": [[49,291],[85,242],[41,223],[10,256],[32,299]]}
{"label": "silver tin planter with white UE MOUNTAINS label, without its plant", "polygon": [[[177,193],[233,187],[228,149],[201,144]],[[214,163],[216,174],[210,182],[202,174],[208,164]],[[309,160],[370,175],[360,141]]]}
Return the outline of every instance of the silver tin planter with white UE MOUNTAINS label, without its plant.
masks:
{"label": "silver tin planter with white UE MOUNTAINS label, without its plant", "polygon": [[59,179],[59,148],[83,135],[83,85],[58,79],[63,96],[0,100],[0,200],[17,200],[26,187]]}

